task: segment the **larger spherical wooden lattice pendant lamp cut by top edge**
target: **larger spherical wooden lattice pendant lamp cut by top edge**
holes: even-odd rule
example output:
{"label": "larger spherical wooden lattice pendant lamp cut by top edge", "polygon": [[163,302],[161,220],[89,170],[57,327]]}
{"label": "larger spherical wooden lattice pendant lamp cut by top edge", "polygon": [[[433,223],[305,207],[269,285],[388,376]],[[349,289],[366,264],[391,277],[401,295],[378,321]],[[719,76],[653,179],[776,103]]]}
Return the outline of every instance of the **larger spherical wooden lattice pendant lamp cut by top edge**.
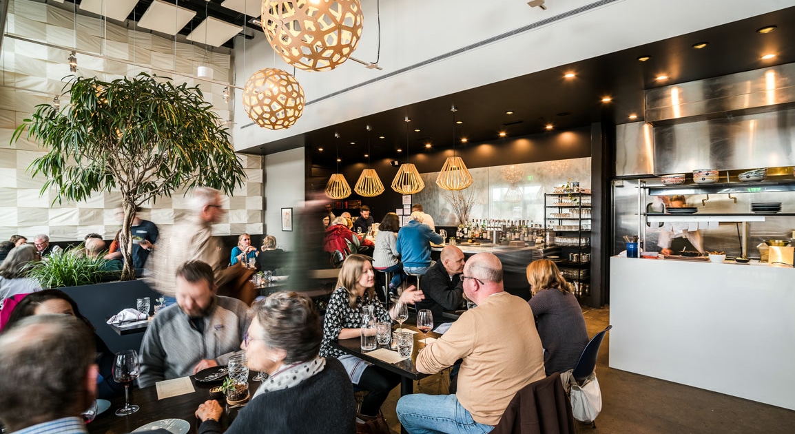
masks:
{"label": "larger spherical wooden lattice pendant lamp cut by top edge", "polygon": [[262,31],[287,64],[330,71],[343,64],[362,37],[359,0],[264,0]]}

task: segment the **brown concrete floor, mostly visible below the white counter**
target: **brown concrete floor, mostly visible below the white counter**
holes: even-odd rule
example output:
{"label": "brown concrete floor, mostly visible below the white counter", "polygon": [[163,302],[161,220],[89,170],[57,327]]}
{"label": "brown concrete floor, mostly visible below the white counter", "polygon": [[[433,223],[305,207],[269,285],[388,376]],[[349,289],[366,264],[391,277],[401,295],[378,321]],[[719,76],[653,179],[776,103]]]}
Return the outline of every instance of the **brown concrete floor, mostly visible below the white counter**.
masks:
{"label": "brown concrete floor, mostly visible below the white counter", "polygon": [[[584,308],[588,335],[607,327],[609,308]],[[603,409],[596,428],[577,424],[577,432],[590,434],[626,432],[632,434],[749,434],[795,433],[795,411],[760,404],[722,393],[696,389],[607,367],[610,333],[602,343],[596,373],[602,389]],[[782,373],[784,375],[785,373]],[[442,375],[424,378],[415,391],[443,393]],[[783,386],[782,386],[783,387]],[[400,432],[394,412],[399,389],[394,389],[382,406],[393,432]]]}

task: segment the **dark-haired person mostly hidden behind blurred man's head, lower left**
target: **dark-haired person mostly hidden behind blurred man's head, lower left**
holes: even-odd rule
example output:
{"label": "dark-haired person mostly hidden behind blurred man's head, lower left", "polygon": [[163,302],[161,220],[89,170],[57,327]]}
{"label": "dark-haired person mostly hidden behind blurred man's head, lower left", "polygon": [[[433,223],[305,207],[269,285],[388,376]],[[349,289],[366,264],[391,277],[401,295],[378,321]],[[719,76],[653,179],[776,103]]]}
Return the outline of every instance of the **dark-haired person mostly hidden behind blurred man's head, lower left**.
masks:
{"label": "dark-haired person mostly hidden behind blurred man's head, lower left", "polygon": [[97,391],[100,399],[111,399],[124,393],[124,386],[113,380],[114,354],[108,349],[102,338],[96,334],[91,322],[80,314],[75,300],[58,289],[45,289],[38,293],[25,296],[11,312],[5,328],[14,327],[21,320],[34,315],[69,315],[83,321],[94,334],[96,361],[99,364],[99,377],[97,378]]}

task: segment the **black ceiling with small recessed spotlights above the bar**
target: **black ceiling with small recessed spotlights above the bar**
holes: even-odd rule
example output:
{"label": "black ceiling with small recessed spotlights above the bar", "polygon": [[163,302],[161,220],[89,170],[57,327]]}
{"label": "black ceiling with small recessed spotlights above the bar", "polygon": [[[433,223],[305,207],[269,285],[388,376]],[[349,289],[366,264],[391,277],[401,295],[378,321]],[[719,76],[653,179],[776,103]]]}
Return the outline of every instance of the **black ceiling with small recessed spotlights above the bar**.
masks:
{"label": "black ceiling with small recessed spotlights above the bar", "polygon": [[[756,32],[766,25],[778,28],[772,33]],[[555,130],[587,126],[604,117],[620,124],[632,122],[628,118],[632,113],[638,114],[640,121],[644,89],[792,63],[795,62],[792,41],[795,41],[795,7],[387,110],[242,152],[268,154],[306,145],[312,149],[313,164],[329,167],[335,164],[334,135],[339,133],[340,165],[366,162],[366,126],[370,126],[370,157],[401,160],[406,148],[405,116],[412,119],[410,153],[438,152],[452,145],[450,107],[453,104],[459,109],[456,118],[463,121],[456,127],[456,136],[466,137],[470,144],[496,142],[500,131],[514,138],[543,134],[548,123]],[[709,45],[692,48],[698,42]],[[766,52],[778,56],[761,60]],[[638,56],[650,56],[650,60],[640,62]],[[566,72],[574,72],[576,77],[564,79]],[[663,73],[670,79],[657,81],[655,78]],[[601,99],[606,95],[612,101],[603,104]],[[514,114],[506,114],[506,110],[513,110]],[[421,131],[416,133],[414,129]],[[431,149],[425,149],[427,142],[432,144]],[[324,151],[318,151],[319,147]],[[397,153],[398,148],[403,152]]]}

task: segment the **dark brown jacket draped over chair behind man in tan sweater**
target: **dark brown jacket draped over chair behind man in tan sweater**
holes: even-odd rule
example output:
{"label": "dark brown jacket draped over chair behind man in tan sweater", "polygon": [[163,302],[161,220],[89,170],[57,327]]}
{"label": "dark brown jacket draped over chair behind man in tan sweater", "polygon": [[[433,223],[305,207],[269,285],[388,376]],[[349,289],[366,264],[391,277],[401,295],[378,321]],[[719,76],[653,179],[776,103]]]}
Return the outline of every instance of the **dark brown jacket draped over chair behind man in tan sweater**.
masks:
{"label": "dark brown jacket draped over chair behind man in tan sweater", "polygon": [[491,434],[573,432],[572,405],[560,382],[560,374],[555,373],[519,390]]}

